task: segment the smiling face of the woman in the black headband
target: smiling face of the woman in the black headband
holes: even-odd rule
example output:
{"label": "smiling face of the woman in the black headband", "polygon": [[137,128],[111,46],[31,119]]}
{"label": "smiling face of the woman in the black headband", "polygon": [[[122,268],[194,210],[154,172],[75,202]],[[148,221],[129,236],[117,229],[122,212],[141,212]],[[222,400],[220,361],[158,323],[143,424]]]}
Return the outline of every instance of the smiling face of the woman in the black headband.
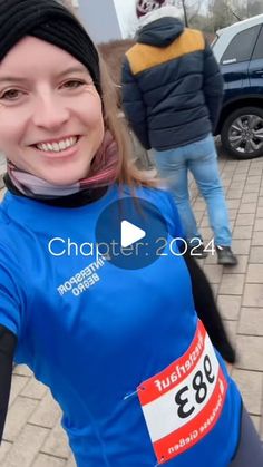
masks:
{"label": "smiling face of the woman in the black headband", "polygon": [[101,100],[85,66],[26,37],[0,62],[0,150],[56,185],[89,173],[104,137]]}

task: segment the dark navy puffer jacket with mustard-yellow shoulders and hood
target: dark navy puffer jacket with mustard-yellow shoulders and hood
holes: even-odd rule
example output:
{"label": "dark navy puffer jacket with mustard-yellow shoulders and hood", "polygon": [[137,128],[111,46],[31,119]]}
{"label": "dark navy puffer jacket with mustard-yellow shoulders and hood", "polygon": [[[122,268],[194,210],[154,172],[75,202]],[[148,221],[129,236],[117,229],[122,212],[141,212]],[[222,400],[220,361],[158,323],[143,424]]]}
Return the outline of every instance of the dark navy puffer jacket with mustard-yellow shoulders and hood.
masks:
{"label": "dark navy puffer jacket with mustard-yellow shoulders and hood", "polygon": [[203,33],[173,17],[144,26],[123,64],[123,106],[146,149],[172,149],[216,125],[223,78]]}

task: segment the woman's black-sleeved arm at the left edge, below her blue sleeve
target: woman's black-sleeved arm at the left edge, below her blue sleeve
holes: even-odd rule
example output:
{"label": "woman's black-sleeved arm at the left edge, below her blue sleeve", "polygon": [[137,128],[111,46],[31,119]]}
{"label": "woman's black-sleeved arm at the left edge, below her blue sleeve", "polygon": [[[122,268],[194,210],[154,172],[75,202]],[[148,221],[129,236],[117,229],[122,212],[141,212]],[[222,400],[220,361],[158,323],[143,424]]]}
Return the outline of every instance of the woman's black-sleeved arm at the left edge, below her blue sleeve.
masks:
{"label": "woman's black-sleeved arm at the left edge, below her blue sleeve", "polygon": [[17,337],[0,324],[0,442],[8,411]]}

